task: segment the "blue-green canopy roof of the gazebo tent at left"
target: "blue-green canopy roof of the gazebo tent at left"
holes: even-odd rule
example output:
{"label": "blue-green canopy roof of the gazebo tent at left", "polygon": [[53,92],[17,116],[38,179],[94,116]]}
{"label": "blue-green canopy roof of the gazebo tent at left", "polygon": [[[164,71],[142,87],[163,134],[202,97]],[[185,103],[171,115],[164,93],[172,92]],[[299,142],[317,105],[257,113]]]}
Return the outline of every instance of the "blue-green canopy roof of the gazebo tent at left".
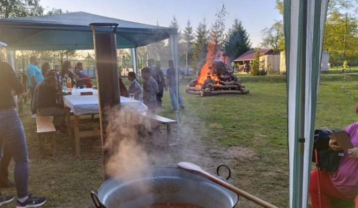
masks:
{"label": "blue-green canopy roof of the gazebo tent at left", "polygon": [[[86,50],[93,49],[90,23],[117,23],[117,48],[136,48],[177,34],[173,28],[114,19],[86,12],[0,19],[0,41],[8,50]],[[98,32],[112,32],[95,27]]]}

